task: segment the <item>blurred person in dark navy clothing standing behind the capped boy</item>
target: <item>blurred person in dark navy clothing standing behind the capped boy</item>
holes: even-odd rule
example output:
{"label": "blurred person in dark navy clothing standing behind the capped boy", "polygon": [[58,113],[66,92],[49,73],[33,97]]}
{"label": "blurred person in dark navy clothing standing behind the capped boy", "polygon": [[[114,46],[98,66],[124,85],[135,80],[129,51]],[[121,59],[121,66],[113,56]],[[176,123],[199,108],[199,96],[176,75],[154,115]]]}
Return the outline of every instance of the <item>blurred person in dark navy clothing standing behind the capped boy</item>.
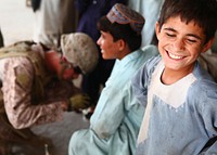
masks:
{"label": "blurred person in dark navy clothing standing behind the capped boy", "polygon": [[[127,0],[76,0],[75,5],[79,13],[77,31],[88,34],[97,43],[100,31],[97,28],[97,22],[105,15],[115,3],[127,4]],[[99,47],[98,47],[99,48]],[[99,48],[99,62],[93,72],[82,76],[81,90],[89,94],[92,100],[92,107],[95,106],[100,88],[105,86],[110,77],[115,60],[103,60]],[[90,117],[90,112],[87,118]]]}

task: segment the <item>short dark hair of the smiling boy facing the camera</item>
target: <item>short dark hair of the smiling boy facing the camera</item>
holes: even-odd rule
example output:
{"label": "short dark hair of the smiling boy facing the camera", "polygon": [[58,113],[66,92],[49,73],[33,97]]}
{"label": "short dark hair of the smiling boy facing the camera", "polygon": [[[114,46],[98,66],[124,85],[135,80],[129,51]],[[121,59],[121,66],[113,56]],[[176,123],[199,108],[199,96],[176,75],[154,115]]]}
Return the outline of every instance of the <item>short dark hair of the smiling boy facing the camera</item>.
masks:
{"label": "short dark hair of the smiling boy facing the camera", "polygon": [[165,0],[159,15],[159,30],[169,18],[180,16],[187,24],[195,22],[206,36],[205,43],[215,36],[217,28],[216,0]]}

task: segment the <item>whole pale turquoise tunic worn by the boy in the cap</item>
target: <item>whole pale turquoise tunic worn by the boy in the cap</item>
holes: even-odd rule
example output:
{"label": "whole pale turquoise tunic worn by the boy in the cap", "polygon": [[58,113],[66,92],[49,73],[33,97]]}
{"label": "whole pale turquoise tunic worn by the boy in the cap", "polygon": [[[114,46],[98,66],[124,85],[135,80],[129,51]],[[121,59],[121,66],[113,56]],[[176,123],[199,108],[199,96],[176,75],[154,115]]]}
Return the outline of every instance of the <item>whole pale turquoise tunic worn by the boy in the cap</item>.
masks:
{"label": "whole pale turquoise tunic worn by the boy in the cap", "polygon": [[143,108],[127,95],[125,87],[140,66],[156,55],[156,47],[138,50],[116,61],[106,81],[90,128],[75,132],[71,139],[69,155],[133,155]]}

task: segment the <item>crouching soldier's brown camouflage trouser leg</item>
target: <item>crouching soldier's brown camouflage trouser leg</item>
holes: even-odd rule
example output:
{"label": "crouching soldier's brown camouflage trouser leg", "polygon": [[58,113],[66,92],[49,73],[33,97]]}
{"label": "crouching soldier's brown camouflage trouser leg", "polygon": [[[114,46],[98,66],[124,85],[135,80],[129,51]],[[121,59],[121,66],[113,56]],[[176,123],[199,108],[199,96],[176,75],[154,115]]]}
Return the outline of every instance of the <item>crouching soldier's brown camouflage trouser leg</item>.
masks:
{"label": "crouching soldier's brown camouflage trouser leg", "polygon": [[36,135],[29,128],[14,129],[9,122],[5,113],[0,114],[0,155],[9,155],[10,146],[29,145],[35,148],[44,147],[44,144],[51,145],[49,139]]}

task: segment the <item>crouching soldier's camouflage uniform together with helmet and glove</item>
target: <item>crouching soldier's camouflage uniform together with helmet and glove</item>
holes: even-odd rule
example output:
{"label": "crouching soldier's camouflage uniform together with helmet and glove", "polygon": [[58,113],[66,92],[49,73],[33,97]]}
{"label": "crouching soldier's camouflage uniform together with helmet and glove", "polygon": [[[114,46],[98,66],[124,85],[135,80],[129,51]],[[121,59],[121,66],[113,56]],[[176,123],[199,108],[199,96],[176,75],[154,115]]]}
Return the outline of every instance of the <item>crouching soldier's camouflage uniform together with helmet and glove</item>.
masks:
{"label": "crouching soldier's camouflage uniform together with helmet and glove", "polygon": [[[92,39],[82,33],[62,35],[63,56],[84,74],[98,63]],[[43,146],[44,141],[29,129],[62,119],[61,101],[72,109],[89,103],[72,81],[59,80],[46,68],[44,47],[21,41],[0,49],[0,155],[11,142]],[[79,94],[78,94],[79,93]],[[76,95],[78,94],[78,95]]]}

